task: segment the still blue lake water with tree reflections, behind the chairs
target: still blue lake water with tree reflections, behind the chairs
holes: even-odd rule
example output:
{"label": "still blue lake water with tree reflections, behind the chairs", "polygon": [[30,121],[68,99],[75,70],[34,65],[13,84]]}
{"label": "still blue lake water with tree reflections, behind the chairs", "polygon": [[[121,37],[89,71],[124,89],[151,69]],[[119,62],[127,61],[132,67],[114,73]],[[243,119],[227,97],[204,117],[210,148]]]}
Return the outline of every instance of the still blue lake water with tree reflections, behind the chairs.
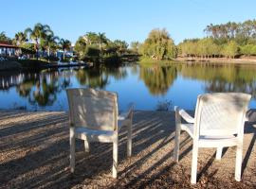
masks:
{"label": "still blue lake water with tree reflections, behind the chairs", "polygon": [[119,94],[119,110],[130,103],[137,110],[160,104],[192,110],[198,94],[252,94],[256,108],[256,66],[233,64],[149,64],[116,68],[62,68],[39,73],[0,73],[0,109],[66,111],[66,88],[91,87]]}

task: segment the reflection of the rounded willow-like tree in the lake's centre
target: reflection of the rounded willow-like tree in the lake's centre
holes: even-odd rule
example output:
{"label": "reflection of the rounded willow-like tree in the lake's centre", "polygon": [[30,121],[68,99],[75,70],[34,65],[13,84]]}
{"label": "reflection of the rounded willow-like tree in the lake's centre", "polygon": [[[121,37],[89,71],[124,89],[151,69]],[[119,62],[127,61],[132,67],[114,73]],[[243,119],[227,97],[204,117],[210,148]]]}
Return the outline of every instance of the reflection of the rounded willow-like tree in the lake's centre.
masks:
{"label": "reflection of the rounded willow-like tree in the lake's centre", "polygon": [[145,82],[151,94],[166,94],[177,76],[174,66],[140,66],[139,77]]}

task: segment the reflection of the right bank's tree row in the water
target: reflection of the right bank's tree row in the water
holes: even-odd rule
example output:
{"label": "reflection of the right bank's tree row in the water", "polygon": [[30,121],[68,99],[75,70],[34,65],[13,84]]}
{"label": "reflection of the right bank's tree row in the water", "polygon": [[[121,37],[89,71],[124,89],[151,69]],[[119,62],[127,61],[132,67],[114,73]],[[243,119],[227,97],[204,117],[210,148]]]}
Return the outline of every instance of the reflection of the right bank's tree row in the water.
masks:
{"label": "reflection of the right bank's tree row in the water", "polygon": [[184,66],[181,73],[184,77],[204,80],[207,93],[240,92],[256,97],[255,67]]}

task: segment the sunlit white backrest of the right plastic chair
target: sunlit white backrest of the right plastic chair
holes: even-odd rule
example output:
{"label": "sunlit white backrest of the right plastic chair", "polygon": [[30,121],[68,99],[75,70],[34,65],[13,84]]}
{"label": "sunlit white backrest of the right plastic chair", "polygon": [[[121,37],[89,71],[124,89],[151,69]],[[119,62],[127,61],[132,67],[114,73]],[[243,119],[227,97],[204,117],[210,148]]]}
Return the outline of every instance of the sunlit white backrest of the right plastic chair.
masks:
{"label": "sunlit white backrest of the right plastic chair", "polygon": [[195,110],[195,137],[225,136],[244,131],[250,94],[202,94]]}

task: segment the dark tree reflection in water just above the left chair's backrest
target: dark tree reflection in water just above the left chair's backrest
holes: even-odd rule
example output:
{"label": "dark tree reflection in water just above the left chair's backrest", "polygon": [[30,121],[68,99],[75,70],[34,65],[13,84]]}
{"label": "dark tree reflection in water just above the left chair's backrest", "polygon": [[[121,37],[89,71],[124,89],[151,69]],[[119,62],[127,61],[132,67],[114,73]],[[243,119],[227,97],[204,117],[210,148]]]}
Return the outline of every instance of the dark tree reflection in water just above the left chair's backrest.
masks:
{"label": "dark tree reflection in water just above the left chair's backrest", "polygon": [[76,72],[76,77],[81,85],[91,88],[103,89],[108,83],[108,77],[99,68],[80,69]]}

